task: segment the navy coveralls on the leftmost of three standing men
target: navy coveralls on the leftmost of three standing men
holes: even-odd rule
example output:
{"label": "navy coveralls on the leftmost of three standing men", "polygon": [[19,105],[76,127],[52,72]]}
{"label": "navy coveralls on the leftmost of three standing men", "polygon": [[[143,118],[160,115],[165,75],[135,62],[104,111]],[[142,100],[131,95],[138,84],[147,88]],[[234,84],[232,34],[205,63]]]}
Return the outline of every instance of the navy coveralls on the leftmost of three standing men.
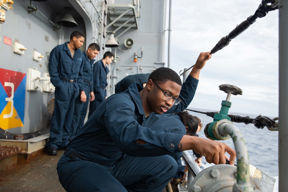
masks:
{"label": "navy coveralls on the leftmost of three standing men", "polygon": [[83,81],[83,57],[75,49],[72,59],[69,42],[56,46],[50,53],[49,75],[55,86],[54,111],[51,119],[50,138],[46,148],[65,147],[70,137],[75,98]]}

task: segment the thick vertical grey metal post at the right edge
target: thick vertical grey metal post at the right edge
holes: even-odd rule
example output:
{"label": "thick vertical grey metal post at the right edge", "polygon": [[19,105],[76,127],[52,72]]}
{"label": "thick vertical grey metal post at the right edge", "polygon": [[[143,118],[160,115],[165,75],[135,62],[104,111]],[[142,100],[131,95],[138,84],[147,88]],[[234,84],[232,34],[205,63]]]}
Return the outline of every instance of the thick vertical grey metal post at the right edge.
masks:
{"label": "thick vertical grey metal post at the right edge", "polygon": [[[287,6],[287,7],[286,7]],[[288,1],[279,1],[279,192],[288,189]]]}

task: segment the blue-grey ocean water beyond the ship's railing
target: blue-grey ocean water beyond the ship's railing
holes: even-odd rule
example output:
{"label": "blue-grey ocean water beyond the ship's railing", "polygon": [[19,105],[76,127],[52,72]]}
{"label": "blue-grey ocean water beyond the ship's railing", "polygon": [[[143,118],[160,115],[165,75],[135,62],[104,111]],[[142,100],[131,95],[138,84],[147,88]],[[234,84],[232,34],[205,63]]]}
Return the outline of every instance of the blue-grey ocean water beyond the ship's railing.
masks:
{"label": "blue-grey ocean water beyond the ship's railing", "polygon": [[[193,110],[202,112],[211,111],[206,109],[193,109]],[[198,132],[198,135],[200,137],[206,138],[204,134],[204,128],[207,123],[213,122],[213,118],[201,113],[196,113],[192,111],[188,112],[191,115],[197,116],[201,119],[201,122],[203,123],[203,128],[200,130],[200,132]],[[248,115],[251,118],[255,118],[258,116],[242,113],[234,113],[234,114],[242,116]],[[262,170],[266,174],[274,177],[276,179],[274,192],[278,191],[278,131],[269,131],[267,127],[264,127],[263,129],[258,129],[253,124],[246,125],[245,123],[234,123],[234,125],[241,131],[241,133],[245,138],[249,153],[249,163],[257,167],[259,170]],[[229,145],[232,149],[235,149],[232,139],[219,142],[224,142],[227,145]],[[237,162],[235,161],[235,164],[236,163]],[[203,164],[201,166],[202,169],[213,165],[207,163],[204,157],[202,157],[202,164]]]}

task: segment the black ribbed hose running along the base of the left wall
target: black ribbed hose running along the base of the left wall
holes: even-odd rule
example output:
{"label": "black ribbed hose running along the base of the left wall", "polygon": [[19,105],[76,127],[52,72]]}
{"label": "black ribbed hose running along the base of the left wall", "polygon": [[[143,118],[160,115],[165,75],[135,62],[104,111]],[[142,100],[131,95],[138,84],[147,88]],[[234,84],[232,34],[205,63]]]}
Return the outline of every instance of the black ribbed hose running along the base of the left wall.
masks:
{"label": "black ribbed hose running along the base of the left wall", "polygon": [[49,132],[50,132],[50,127],[41,129],[39,131],[34,131],[34,132],[24,133],[24,134],[13,134],[0,128],[0,139],[14,139],[15,135],[17,135],[17,137],[19,137],[20,135],[22,137],[24,136],[24,140],[27,140],[27,139],[34,138],[34,137],[37,137],[37,136],[40,136]]}

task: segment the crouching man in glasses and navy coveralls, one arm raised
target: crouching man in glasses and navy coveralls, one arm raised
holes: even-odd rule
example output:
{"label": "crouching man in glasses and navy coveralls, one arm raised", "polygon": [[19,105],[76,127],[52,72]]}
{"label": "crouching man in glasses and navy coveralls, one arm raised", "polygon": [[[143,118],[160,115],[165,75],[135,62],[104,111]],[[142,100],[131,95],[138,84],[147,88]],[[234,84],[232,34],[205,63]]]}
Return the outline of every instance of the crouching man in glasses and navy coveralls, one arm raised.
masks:
{"label": "crouching man in glasses and navy coveralls, one arm raised", "polygon": [[210,57],[209,52],[200,54],[182,89],[178,74],[162,67],[151,73],[144,89],[133,83],[101,103],[58,162],[59,181],[65,190],[162,191],[178,168],[167,154],[189,149],[216,164],[226,163],[227,151],[234,163],[236,153],[224,143],[147,128],[147,118],[150,123],[158,119],[154,113],[186,109],[199,71]]}

